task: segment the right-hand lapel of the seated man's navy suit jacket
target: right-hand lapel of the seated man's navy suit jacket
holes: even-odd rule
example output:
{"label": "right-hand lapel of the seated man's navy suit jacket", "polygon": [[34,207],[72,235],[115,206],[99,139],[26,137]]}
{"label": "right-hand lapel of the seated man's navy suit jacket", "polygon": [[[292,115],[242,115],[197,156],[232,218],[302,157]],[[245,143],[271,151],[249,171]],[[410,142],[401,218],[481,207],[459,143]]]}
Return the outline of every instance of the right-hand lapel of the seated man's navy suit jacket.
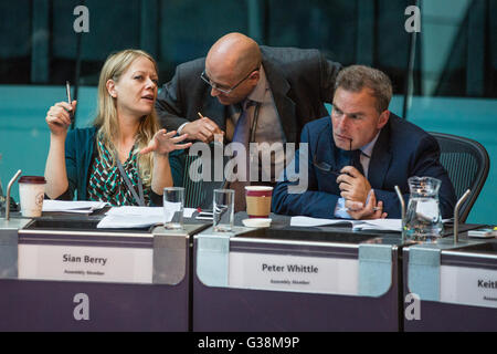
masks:
{"label": "right-hand lapel of the seated man's navy suit jacket", "polygon": [[372,188],[382,188],[387,171],[390,168],[390,129],[387,124],[380,132],[369,163],[368,180]]}

